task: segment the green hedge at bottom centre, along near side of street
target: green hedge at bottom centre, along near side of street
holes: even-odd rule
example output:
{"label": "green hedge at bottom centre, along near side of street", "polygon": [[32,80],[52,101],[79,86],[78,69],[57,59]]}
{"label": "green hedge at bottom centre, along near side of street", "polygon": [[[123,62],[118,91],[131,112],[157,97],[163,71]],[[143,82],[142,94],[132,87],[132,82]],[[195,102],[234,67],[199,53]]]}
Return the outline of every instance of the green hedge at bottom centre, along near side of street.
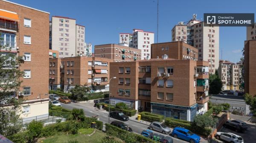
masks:
{"label": "green hedge at bottom centre, along near side of street", "polygon": [[130,133],[123,129],[117,128],[116,126],[112,126],[108,123],[106,123],[105,126],[107,135],[118,137],[125,143],[160,143],[158,141],[154,141],[150,138],[144,137],[143,135]]}

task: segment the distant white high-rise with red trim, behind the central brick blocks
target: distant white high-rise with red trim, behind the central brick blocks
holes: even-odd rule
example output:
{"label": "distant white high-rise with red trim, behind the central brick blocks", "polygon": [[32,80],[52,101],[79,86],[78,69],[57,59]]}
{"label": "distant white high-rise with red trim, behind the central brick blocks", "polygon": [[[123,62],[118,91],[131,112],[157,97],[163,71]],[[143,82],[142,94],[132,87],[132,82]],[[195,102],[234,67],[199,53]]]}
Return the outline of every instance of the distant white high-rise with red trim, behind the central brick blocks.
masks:
{"label": "distant white high-rise with red trim, behind the central brick blocks", "polygon": [[141,50],[141,59],[150,59],[151,44],[154,44],[154,33],[133,29],[133,34],[120,33],[119,43],[129,44],[129,47]]}

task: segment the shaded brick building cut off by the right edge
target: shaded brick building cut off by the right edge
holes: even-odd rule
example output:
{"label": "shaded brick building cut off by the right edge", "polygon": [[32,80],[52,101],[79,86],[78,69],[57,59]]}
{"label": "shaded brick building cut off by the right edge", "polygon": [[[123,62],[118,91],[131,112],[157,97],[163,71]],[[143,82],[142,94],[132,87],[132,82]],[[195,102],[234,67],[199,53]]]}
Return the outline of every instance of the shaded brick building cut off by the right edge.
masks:
{"label": "shaded brick building cut off by the right edge", "polygon": [[244,42],[244,93],[256,95],[256,40]]}

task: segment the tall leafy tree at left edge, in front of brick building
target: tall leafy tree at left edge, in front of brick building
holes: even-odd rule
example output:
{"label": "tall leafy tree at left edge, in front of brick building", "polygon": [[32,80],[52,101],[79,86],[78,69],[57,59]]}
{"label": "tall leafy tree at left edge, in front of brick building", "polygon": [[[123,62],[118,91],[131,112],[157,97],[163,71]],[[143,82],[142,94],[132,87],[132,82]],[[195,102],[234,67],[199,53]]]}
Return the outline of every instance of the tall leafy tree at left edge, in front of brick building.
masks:
{"label": "tall leafy tree at left edge, in front of brick building", "polygon": [[9,52],[10,48],[0,48],[6,50],[0,52],[0,134],[10,136],[21,129],[20,116],[17,112],[20,111],[22,99],[14,98],[13,93],[19,91],[22,83],[20,77],[23,76],[23,72],[17,67],[24,61],[21,56]]}

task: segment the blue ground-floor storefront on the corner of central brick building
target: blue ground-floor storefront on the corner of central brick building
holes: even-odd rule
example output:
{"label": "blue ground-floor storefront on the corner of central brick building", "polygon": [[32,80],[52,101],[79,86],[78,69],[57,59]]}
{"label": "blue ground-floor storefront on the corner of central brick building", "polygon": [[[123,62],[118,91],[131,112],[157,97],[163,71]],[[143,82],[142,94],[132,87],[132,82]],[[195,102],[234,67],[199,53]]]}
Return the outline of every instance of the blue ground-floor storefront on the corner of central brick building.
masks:
{"label": "blue ground-floor storefront on the corner of central brick building", "polygon": [[186,107],[151,102],[152,113],[186,121],[193,121],[197,112],[197,107],[198,104]]}

